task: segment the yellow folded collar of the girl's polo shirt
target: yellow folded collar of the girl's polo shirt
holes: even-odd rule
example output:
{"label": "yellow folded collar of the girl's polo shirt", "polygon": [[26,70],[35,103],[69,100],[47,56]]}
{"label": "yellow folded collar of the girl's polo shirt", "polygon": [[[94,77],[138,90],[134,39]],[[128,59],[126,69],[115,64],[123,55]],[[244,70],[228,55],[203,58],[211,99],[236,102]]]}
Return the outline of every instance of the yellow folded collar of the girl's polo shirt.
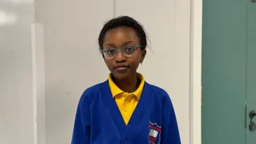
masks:
{"label": "yellow folded collar of the girl's polo shirt", "polygon": [[[134,94],[138,99],[140,99],[143,87],[144,87],[144,83],[145,83],[145,79],[143,77],[143,75],[141,75],[140,73],[137,73],[138,78],[140,79],[140,85],[138,87],[138,89],[133,92],[132,94]],[[124,93],[124,91],[122,91],[121,89],[119,89],[119,87],[113,82],[112,78],[111,78],[111,74],[108,75],[108,83],[109,83],[109,87],[111,90],[111,93],[113,95],[113,98],[119,94],[119,93]]]}

